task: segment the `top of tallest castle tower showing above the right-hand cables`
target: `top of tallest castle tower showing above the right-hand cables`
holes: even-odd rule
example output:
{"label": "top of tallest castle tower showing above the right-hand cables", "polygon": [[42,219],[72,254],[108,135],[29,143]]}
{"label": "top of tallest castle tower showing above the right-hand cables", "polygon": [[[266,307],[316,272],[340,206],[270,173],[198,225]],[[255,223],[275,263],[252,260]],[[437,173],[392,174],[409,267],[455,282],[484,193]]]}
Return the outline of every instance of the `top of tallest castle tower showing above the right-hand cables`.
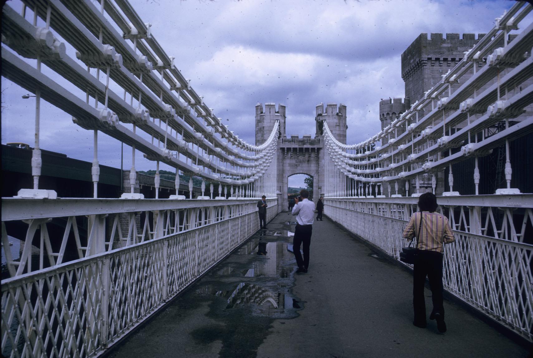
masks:
{"label": "top of tallest castle tower showing above the right-hand cables", "polygon": [[[405,96],[415,103],[424,92],[438,84],[442,75],[463,59],[464,52],[485,34],[420,34],[401,55],[401,77],[405,81]],[[457,85],[458,86],[458,85]]]}

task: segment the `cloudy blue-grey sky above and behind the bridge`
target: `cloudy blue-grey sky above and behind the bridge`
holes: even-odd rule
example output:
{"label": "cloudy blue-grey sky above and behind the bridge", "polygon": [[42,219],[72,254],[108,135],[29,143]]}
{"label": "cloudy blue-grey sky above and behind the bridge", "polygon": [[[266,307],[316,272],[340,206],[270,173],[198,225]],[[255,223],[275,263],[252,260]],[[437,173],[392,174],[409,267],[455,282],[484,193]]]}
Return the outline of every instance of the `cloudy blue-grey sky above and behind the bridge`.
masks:
{"label": "cloudy blue-grey sky above and behind the bridge", "polygon": [[[96,1],[95,3],[98,3]],[[379,131],[380,98],[403,97],[400,55],[422,32],[480,33],[510,0],[130,0],[191,86],[240,138],[254,143],[254,107],[287,106],[287,134],[314,136],[314,107],[348,106],[348,143]],[[7,2],[20,9],[18,0]],[[33,146],[33,98],[2,78],[2,144]],[[92,161],[92,132],[42,104],[41,147]],[[100,164],[120,143],[100,135]],[[124,166],[131,166],[125,147]],[[141,154],[138,170],[155,169]],[[161,166],[161,169],[165,166]]]}

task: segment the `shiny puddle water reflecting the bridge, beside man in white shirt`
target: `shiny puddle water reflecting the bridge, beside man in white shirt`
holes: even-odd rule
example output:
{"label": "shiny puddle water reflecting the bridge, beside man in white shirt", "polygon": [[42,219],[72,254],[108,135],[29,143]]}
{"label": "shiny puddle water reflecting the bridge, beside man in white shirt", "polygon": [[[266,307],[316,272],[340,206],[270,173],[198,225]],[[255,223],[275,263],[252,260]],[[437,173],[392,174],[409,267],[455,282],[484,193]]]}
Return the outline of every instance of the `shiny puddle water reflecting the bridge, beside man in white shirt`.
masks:
{"label": "shiny puddle water reflecting the bridge, beside man in white shirt", "polygon": [[[195,294],[225,299],[226,310],[247,308],[262,317],[296,317],[303,307],[289,292],[295,270],[290,236],[294,233],[287,229],[258,231],[233,253],[235,259],[209,275],[209,283],[199,282]],[[237,277],[241,281],[232,280]]]}

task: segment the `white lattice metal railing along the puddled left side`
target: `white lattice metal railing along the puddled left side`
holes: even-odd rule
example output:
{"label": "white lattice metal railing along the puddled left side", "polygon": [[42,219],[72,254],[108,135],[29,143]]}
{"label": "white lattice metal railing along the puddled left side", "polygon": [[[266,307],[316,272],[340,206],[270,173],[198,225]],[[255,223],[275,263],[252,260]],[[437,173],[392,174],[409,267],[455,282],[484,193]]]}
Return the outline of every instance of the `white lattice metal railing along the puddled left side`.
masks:
{"label": "white lattice metal railing along the puddled left side", "polygon": [[[12,276],[2,280],[3,356],[99,355],[259,227],[256,200],[136,202],[3,199]],[[270,220],[277,199],[267,202]],[[7,243],[13,223],[26,225],[17,262]]]}

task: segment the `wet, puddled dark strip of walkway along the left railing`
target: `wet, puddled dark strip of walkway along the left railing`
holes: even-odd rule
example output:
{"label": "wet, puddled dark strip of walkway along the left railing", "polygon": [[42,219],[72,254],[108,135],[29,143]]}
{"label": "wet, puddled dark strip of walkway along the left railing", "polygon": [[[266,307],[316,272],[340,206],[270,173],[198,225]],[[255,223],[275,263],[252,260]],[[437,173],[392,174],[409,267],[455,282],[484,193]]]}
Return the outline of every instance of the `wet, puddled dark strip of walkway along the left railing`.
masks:
{"label": "wet, puddled dark strip of walkway along the left railing", "polygon": [[[274,320],[296,318],[304,309],[304,302],[292,293],[296,262],[287,249],[292,244],[290,234],[289,224],[270,222],[268,229],[257,231],[151,324],[172,322],[173,331],[161,332],[161,336],[189,332],[184,338],[188,342],[183,343],[185,351],[221,343],[219,357],[255,356]],[[200,319],[195,314],[202,307],[208,312]],[[196,323],[191,326],[190,322]],[[148,328],[143,331],[130,339],[149,334]]]}

